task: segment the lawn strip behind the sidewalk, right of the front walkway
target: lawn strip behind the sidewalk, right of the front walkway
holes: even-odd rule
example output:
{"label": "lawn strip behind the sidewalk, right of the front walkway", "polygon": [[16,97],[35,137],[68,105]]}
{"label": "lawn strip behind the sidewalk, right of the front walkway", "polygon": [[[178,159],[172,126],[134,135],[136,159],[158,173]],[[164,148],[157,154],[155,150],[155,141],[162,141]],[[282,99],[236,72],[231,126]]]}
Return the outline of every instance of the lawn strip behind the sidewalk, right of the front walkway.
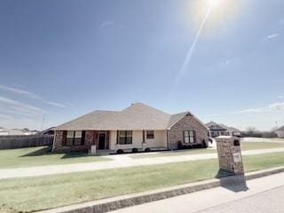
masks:
{"label": "lawn strip behind the sidewalk, right of the front walkway", "polygon": [[[284,148],[284,143],[275,143],[275,142],[242,142],[241,150],[256,150],[256,149],[270,149],[270,148]],[[168,157],[168,156],[177,156],[177,155],[187,155],[187,154],[214,154],[217,153],[216,149],[187,149],[187,150],[178,150],[178,151],[167,151],[160,152],[158,154],[140,154],[132,155],[133,159],[141,158],[153,158],[153,157]]]}

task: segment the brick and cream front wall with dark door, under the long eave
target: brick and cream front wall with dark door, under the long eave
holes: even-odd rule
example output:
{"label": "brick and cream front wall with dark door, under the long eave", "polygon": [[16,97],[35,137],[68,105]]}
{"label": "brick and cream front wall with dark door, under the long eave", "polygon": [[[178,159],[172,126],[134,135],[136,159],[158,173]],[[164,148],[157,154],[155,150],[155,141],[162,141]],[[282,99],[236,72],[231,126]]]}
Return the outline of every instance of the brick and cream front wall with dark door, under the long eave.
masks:
{"label": "brick and cream front wall with dark door, under the long eave", "polygon": [[[96,151],[91,149],[95,149]],[[167,149],[166,130],[56,130],[53,151],[126,153]]]}

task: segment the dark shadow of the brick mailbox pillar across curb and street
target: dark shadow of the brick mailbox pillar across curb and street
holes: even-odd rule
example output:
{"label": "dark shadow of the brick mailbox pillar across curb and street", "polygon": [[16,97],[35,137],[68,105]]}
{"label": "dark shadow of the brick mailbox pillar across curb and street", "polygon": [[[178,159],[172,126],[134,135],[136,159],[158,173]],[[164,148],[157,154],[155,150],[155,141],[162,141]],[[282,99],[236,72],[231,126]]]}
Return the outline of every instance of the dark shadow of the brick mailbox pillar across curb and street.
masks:
{"label": "dark shadow of the brick mailbox pillar across curb and street", "polygon": [[220,180],[220,186],[234,193],[248,191],[246,177],[244,175],[234,175],[225,170],[218,170],[216,178]]}

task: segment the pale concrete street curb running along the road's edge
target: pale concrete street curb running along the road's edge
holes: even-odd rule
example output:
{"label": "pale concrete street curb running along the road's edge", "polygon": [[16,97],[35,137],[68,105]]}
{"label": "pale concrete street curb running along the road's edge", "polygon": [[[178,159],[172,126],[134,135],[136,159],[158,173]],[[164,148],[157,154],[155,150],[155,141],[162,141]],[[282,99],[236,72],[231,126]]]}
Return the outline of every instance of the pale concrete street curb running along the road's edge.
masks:
{"label": "pale concrete street curb running along the road's edge", "polygon": [[207,190],[218,186],[236,185],[244,183],[244,180],[266,177],[281,172],[284,172],[284,167],[272,170],[249,172],[245,177],[222,177],[219,179],[205,180],[193,184],[177,185],[160,190],[153,190],[146,193],[134,193],[130,195],[122,195],[114,198],[103,199],[99,201],[89,201],[82,204],[75,204],[57,209],[48,209],[38,211],[38,213],[104,213],[116,209],[136,206],[147,202],[161,201],[163,199],[168,199],[186,193],[199,192],[201,190]]}

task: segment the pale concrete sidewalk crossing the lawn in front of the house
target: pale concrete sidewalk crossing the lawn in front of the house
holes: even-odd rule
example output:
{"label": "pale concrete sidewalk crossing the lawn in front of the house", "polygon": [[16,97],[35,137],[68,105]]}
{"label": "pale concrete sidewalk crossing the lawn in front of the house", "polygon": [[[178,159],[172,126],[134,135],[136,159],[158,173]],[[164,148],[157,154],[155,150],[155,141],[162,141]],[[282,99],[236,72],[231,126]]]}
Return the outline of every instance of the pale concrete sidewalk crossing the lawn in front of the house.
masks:
{"label": "pale concrete sidewalk crossing the lawn in front of the house", "polygon": [[[284,152],[284,148],[248,150],[243,155],[270,154]],[[0,170],[0,179],[13,177],[38,177],[55,174],[67,174],[80,171],[110,170],[135,166],[149,166],[170,162],[190,162],[198,160],[216,159],[217,154],[193,154],[155,158],[132,159],[128,154],[106,156],[113,159],[111,162],[83,162],[64,165],[29,167],[19,169]]]}

